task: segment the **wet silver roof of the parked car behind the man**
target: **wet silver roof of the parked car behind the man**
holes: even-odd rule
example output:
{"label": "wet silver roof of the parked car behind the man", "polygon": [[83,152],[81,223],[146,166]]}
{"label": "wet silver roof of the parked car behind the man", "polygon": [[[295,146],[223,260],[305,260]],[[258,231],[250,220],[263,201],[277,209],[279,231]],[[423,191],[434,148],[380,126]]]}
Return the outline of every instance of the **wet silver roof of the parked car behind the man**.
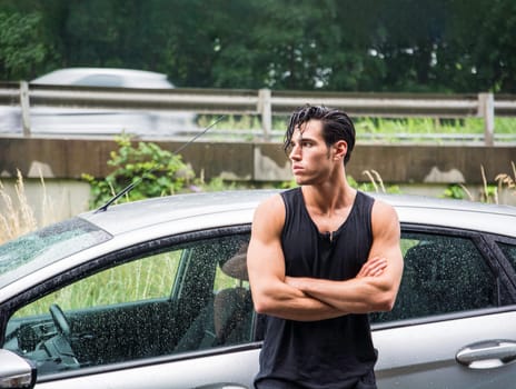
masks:
{"label": "wet silver roof of the parked car behind the man", "polygon": [[[175,194],[111,206],[107,211],[90,211],[80,217],[113,236],[212,213],[231,225],[231,213],[245,211],[246,220],[250,222],[258,203],[279,192],[280,190],[255,189]],[[516,207],[409,194],[369,194],[394,206],[404,223],[425,223],[516,237]],[[220,222],[221,226],[224,223]]]}

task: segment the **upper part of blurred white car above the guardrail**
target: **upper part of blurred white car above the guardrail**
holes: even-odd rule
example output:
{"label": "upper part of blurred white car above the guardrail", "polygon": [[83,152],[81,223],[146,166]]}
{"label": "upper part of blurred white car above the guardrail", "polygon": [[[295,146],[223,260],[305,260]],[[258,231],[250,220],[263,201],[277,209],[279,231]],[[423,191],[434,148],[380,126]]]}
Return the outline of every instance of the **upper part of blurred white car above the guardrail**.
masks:
{"label": "upper part of blurred white car above the guardrail", "polygon": [[[116,80],[116,81],[115,81]],[[117,84],[115,84],[115,82]],[[127,87],[127,88],[173,88],[167,74],[147,70],[119,68],[64,68],[38,77],[36,84]]]}

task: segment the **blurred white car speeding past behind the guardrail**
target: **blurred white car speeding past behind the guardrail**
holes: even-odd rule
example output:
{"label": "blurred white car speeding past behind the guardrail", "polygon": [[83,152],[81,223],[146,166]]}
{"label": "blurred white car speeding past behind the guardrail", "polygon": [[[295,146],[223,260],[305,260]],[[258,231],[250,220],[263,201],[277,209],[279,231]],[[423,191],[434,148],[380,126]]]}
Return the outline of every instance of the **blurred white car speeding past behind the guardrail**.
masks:
{"label": "blurred white car speeding past behind the guardrail", "polygon": [[[167,76],[143,70],[67,68],[52,71],[30,86],[71,86],[131,89],[171,89]],[[196,114],[179,111],[121,110],[111,108],[31,107],[30,132],[50,136],[169,137],[197,128]],[[0,107],[0,132],[21,133],[21,108]]]}

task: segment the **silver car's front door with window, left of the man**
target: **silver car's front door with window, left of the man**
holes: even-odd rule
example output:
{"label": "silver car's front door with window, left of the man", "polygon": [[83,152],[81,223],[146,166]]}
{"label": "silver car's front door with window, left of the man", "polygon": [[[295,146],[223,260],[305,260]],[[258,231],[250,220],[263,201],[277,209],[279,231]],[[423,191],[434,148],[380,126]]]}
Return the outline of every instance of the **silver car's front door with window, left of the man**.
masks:
{"label": "silver car's front door with window, left of the man", "polygon": [[10,301],[2,348],[33,362],[36,388],[250,388],[248,239],[166,237],[57,275]]}

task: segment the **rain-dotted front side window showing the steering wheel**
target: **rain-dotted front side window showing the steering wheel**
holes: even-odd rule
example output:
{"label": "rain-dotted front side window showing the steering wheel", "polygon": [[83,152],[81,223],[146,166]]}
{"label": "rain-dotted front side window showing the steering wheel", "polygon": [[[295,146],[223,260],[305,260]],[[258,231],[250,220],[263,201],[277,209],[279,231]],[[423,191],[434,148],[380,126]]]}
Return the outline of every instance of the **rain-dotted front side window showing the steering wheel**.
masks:
{"label": "rain-dotted front side window showing the steering wheel", "polygon": [[3,348],[44,376],[250,342],[248,239],[160,248],[78,279],[20,307]]}

